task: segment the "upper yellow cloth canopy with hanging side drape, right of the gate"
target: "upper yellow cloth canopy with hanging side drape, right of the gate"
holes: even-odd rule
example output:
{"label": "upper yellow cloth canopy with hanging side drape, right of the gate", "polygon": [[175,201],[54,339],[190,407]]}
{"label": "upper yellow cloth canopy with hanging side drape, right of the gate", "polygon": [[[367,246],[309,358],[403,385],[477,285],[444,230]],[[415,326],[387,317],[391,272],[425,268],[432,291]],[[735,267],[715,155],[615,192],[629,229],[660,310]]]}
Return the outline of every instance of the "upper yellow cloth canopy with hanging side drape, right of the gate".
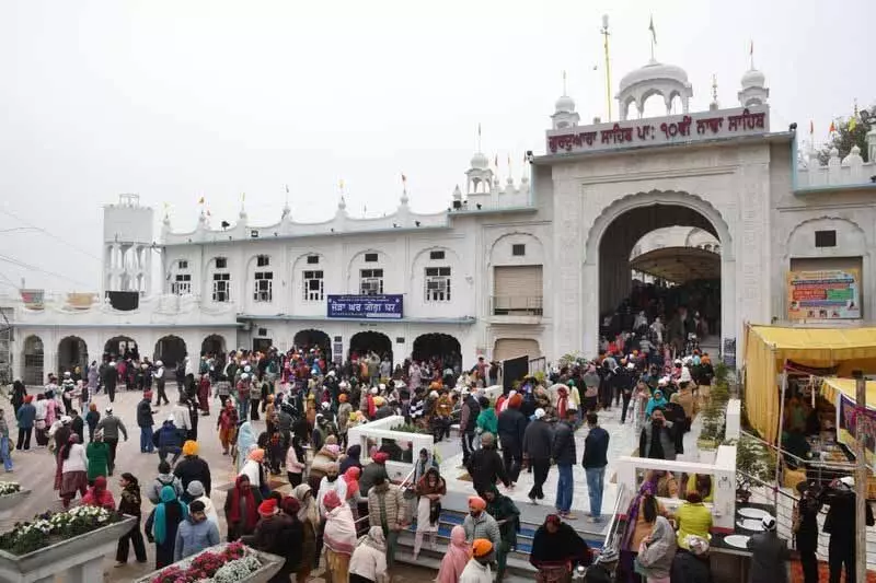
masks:
{"label": "upper yellow cloth canopy with hanging side drape, right of the gate", "polygon": [[840,376],[851,376],[856,369],[876,373],[876,328],[748,326],[746,412],[751,427],[770,443],[779,435],[779,373],[785,361],[814,368],[839,366]]}

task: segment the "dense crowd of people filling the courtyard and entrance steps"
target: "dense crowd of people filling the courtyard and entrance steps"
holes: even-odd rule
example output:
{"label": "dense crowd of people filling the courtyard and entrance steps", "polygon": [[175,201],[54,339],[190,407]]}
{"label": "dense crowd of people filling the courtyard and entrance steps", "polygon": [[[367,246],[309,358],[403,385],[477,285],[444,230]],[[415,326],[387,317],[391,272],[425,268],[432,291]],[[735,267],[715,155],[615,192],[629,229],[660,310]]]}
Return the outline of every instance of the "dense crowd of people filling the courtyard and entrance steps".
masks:
{"label": "dense crowd of people filling the courtyard and entrance steps", "polygon": [[[507,494],[515,491],[520,474],[529,471],[533,486],[527,495],[540,504],[551,468],[556,467],[555,512],[538,528],[529,559],[538,568],[537,581],[566,582],[576,565],[591,562],[586,543],[569,525],[577,520],[572,511],[575,464],[580,463],[586,475],[586,520],[603,521],[610,435],[599,416],[619,408],[621,423],[639,436],[642,457],[671,460],[683,453],[683,435],[710,398],[715,371],[710,355],[696,348],[679,354],[683,352],[676,351],[669,338],[652,341],[620,334],[598,358],[563,363],[543,378],[527,376],[494,400],[485,389],[495,384],[498,366],[483,358],[461,371],[458,365],[443,366],[439,358],[407,360],[393,368],[374,353],[353,354],[338,365],[319,347],[285,353],[238,350],[205,354],[197,362],[184,360],[176,368],[177,398],[158,423],[159,408],[170,404],[162,362],[145,361],[123,372],[107,358],[80,378],[72,371],[60,382],[50,375],[36,395],[15,383],[16,446],[30,450],[33,431],[36,447],[53,451],[55,489],[65,508],[80,497],[82,504],[143,520],[142,527],[138,520],[119,540],[119,564],[127,562],[131,546],[137,561],[147,560],[143,535],[154,545],[159,569],[220,540],[243,540],[285,557],[273,581],[307,581],[322,562],[333,582],[366,583],[387,580],[399,536],[412,525],[414,558],[427,538],[436,548],[447,481],[433,452],[415,453],[411,444],[405,450],[389,440],[380,448],[369,442],[362,452],[361,444],[349,443],[349,429],[400,415],[442,440],[458,420],[474,495],[463,524],[450,533],[438,581],[502,580],[520,528],[520,509]],[[128,439],[128,428],[113,409],[112,392],[122,385],[141,394],[136,407],[140,452],[158,453],[159,463],[157,476],[145,482],[120,474],[123,493],[115,501],[106,480],[115,473],[119,440]],[[99,412],[93,396],[101,390],[111,398]],[[80,417],[74,406],[88,413]],[[204,420],[214,413],[216,424],[205,431]],[[253,421],[262,418],[264,431],[256,431]],[[575,435],[585,424],[579,458]],[[237,476],[222,508],[224,533],[210,499],[214,469],[199,456],[199,443],[212,431]],[[1,416],[0,435],[9,439]],[[7,453],[4,462],[8,457]],[[390,481],[390,459],[413,464],[410,483]],[[272,487],[272,476],[284,474],[290,486],[287,494]],[[153,504],[149,512],[143,491]],[[829,495],[843,493],[838,486]],[[825,503],[825,495],[814,500]],[[649,471],[626,510],[619,580],[710,581],[712,514],[704,504],[713,497],[710,476]],[[659,498],[684,502],[670,514]],[[802,525],[809,524],[807,512],[816,505],[800,506]],[[784,560],[786,546],[768,540],[774,527],[766,522],[763,526],[765,535],[752,539],[752,551],[775,567]],[[601,581],[600,572],[592,569],[588,580]]]}

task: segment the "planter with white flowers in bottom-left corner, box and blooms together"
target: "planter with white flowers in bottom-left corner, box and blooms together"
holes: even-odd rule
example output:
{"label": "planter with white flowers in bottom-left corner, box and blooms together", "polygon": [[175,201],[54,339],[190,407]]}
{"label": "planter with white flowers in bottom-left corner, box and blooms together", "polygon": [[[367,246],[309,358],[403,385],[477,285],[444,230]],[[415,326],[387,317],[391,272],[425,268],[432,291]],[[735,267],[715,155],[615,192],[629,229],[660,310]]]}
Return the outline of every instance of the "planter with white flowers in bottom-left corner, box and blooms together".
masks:
{"label": "planter with white flowers in bottom-left corner, box and blooms together", "polygon": [[45,512],[0,535],[0,581],[39,581],[64,572],[69,581],[103,579],[103,557],[136,523],[96,506]]}

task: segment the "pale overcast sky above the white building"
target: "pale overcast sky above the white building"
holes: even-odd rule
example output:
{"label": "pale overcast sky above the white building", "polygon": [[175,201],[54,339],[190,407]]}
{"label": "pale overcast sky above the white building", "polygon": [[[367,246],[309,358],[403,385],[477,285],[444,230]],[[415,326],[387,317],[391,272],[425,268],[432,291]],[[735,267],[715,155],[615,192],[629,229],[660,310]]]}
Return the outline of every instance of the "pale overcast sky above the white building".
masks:
{"label": "pale overcast sky above the white building", "polygon": [[[807,5],[808,4],[808,5]],[[562,93],[606,117],[601,15],[610,15],[612,95],[649,57],[683,67],[692,109],[737,104],[754,63],[772,129],[830,119],[876,97],[864,48],[867,0],[7,0],[0,3],[0,292],[9,280],[97,290],[101,206],[119,193],[170,205],[193,229],[197,199],[234,221],[240,194],[274,223],[391,212],[407,175],[417,211],[448,206],[476,147],[519,179]],[[869,4],[872,10],[872,4]],[[876,14],[875,14],[876,15]],[[616,117],[616,106],[614,115]],[[39,231],[18,230],[37,226]],[[9,231],[13,230],[15,231]],[[155,225],[158,237],[158,224]],[[5,279],[8,278],[8,279]]]}

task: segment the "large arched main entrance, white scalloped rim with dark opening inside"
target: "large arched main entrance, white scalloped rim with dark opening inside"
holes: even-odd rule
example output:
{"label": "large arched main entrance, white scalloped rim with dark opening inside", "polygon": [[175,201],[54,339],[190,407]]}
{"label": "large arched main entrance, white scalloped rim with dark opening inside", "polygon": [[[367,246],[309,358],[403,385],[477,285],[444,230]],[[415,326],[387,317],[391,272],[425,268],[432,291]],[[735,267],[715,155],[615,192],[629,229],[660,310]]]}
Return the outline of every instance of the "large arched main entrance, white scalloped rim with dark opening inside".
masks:
{"label": "large arched main entrance, white scalloped rim with dark opening inside", "polygon": [[[713,246],[721,257],[717,280],[665,282],[645,281],[641,277],[633,279],[633,249],[648,233],[671,226],[695,228],[717,241]],[[595,352],[600,336],[613,338],[620,331],[633,331],[636,315],[645,311],[648,324],[655,317],[661,317],[666,328],[664,339],[675,339],[676,348],[683,350],[687,335],[699,331],[701,336],[705,333],[706,340],[714,345],[710,348],[717,352],[722,328],[727,325],[734,328],[731,308],[728,316],[728,306],[733,306],[735,301],[733,257],[728,250],[731,248],[726,222],[710,202],[700,197],[652,191],[615,200],[597,218],[587,240],[584,277],[588,285],[599,292],[585,306],[586,349]],[[668,269],[661,272],[681,271]],[[698,312],[700,318],[694,317]],[[599,334],[593,334],[596,330]],[[735,331],[729,336],[735,336]]]}

